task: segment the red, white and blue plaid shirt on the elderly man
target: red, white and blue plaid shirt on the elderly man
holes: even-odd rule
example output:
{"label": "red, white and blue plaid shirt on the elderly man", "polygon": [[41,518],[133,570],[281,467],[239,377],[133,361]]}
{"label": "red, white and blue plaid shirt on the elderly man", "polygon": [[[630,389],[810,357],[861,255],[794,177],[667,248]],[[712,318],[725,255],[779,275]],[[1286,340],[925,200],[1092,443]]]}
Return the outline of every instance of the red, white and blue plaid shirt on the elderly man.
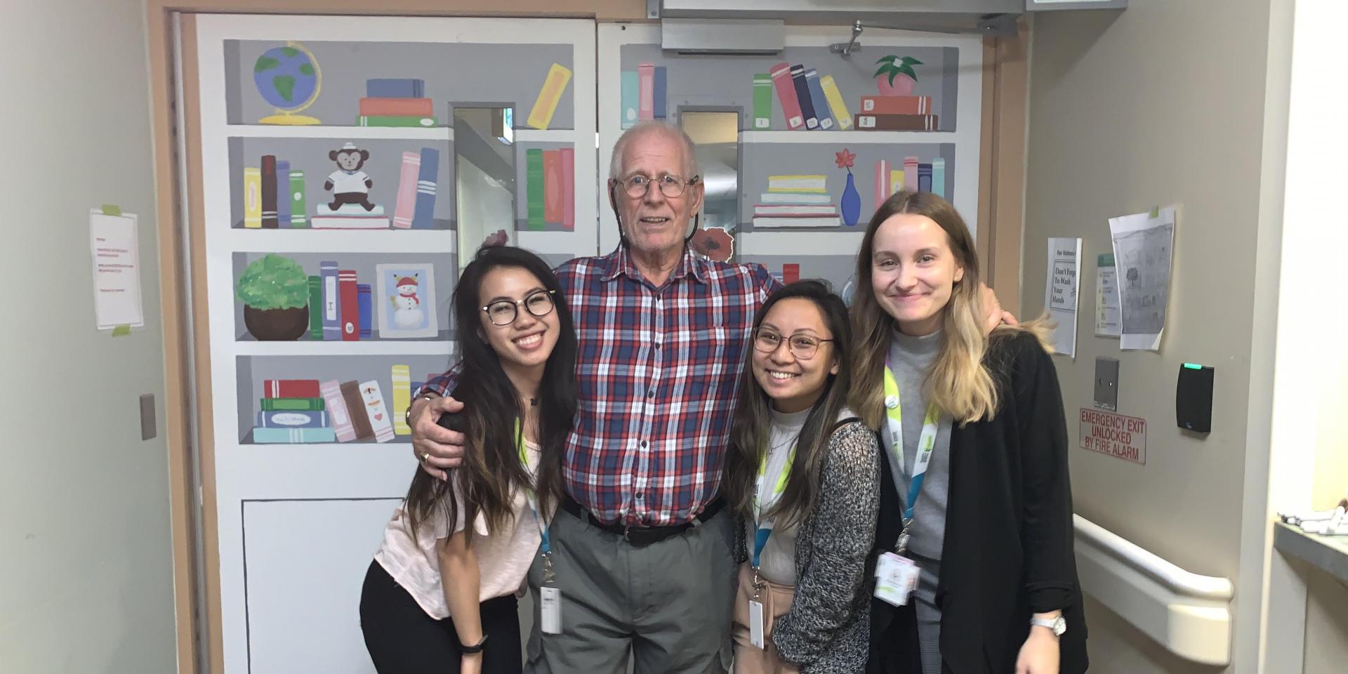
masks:
{"label": "red, white and blue plaid shirt on the elderly man", "polygon": [[[607,523],[690,520],[720,488],[754,314],[778,280],[685,251],[656,288],[621,245],[557,276],[580,346],[566,491]],[[453,377],[425,388],[445,395]]]}

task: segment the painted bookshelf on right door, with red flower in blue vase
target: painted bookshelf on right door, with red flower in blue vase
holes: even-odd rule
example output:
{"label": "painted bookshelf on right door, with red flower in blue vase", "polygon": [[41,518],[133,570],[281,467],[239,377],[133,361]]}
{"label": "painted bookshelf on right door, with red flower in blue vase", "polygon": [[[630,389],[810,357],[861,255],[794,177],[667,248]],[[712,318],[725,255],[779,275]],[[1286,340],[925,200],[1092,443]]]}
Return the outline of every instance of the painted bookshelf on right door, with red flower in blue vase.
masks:
{"label": "painted bookshelf on right door, with red flower in blue vase", "polygon": [[[829,50],[841,35],[791,28],[779,54],[727,57],[663,51],[655,28],[601,26],[601,159],[643,120],[720,146],[700,171],[708,200],[733,186],[739,217],[697,232],[693,248],[849,298],[865,225],[895,191],[941,194],[976,226],[983,47],[878,31],[842,58]],[[689,117],[708,112],[736,115],[733,136],[694,131]]]}

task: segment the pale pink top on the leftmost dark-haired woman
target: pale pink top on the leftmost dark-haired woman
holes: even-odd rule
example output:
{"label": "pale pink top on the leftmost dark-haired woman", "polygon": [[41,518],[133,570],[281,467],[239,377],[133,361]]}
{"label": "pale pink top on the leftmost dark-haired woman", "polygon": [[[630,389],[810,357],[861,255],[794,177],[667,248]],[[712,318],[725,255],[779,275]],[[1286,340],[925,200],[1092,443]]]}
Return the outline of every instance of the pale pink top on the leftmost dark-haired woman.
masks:
{"label": "pale pink top on the leftmost dark-haired woman", "polygon": [[[528,474],[532,480],[538,470],[538,445],[526,442],[528,453]],[[458,479],[458,472],[454,472]],[[454,489],[456,504],[458,506],[458,522],[453,531],[445,526],[442,518],[422,524],[422,535],[417,541],[407,532],[403,510],[394,511],[394,519],[384,527],[384,542],[375,553],[375,561],[398,581],[408,594],[417,600],[427,616],[437,620],[449,617],[449,607],[445,604],[445,588],[439,582],[439,555],[435,553],[435,542],[449,538],[452,534],[464,530],[464,501],[462,491]],[[515,519],[506,530],[487,535],[487,518],[481,514],[473,522],[472,549],[477,555],[479,601],[506,594],[522,594],[524,577],[528,566],[534,563],[538,546],[542,543],[541,524],[538,516],[528,507],[528,500],[523,491],[515,493]]]}

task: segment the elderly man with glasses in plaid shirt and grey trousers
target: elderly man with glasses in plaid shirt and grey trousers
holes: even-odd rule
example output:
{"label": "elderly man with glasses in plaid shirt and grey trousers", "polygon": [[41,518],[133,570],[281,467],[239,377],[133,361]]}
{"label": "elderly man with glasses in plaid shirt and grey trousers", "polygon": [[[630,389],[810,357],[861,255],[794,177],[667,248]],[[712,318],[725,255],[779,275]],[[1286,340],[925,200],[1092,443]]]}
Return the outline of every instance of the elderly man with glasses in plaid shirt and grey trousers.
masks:
{"label": "elderly man with glasses in plaid shirt and grey trousers", "polygon": [[[754,314],[778,282],[686,245],[702,205],[693,150],[662,123],[623,133],[608,179],[621,244],[557,270],[580,390],[550,527],[562,634],[543,634],[535,609],[531,671],[623,674],[628,654],[638,674],[731,665],[735,532],[717,489]],[[442,398],[452,383],[427,383],[408,411],[412,449],[441,479],[464,452],[435,423],[461,407]]]}

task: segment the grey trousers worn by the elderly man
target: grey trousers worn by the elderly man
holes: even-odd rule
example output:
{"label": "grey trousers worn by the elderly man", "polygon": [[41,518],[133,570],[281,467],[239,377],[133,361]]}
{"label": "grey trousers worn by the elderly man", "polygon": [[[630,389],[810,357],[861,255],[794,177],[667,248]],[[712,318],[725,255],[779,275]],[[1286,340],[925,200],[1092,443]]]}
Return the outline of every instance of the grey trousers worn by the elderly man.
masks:
{"label": "grey trousers worn by the elderly man", "polygon": [[549,528],[550,586],[561,590],[562,634],[542,634],[538,588],[543,563],[528,570],[534,628],[526,647],[531,674],[724,674],[733,658],[733,518],[648,546],[557,511]]}

